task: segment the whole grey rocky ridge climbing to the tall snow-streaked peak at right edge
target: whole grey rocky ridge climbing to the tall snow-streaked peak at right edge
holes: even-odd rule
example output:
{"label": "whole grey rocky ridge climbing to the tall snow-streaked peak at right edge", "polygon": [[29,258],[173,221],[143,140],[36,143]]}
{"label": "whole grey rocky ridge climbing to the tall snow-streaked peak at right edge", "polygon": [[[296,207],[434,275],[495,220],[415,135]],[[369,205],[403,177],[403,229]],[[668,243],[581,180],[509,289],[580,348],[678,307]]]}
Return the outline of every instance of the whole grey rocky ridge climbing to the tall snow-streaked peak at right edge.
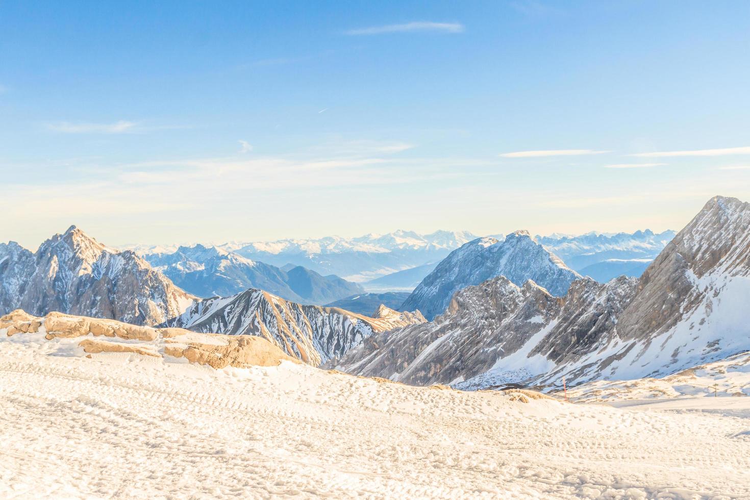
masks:
{"label": "whole grey rocky ridge climbing to the tall snow-streaked peak at right edge", "polygon": [[750,350],[748,297],[750,205],[717,196],[640,279],[583,278],[556,298],[494,278],[433,322],[374,335],[329,365],[463,389],[666,376]]}

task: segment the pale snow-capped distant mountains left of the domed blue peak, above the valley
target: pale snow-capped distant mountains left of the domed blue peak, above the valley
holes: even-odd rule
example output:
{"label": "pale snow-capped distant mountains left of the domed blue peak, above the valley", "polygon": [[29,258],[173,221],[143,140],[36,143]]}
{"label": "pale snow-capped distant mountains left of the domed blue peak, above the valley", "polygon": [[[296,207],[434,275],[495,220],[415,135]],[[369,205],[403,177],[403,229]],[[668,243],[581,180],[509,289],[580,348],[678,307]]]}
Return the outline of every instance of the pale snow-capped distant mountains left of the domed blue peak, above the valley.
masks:
{"label": "pale snow-capped distant mountains left of the domed blue peak, above the valley", "polygon": [[437,231],[420,235],[399,230],[386,235],[358,238],[329,236],[320,239],[228,244],[221,246],[249,259],[282,267],[302,265],[320,274],[336,274],[347,280],[364,282],[374,278],[437,262],[451,250],[475,238],[466,231]]}

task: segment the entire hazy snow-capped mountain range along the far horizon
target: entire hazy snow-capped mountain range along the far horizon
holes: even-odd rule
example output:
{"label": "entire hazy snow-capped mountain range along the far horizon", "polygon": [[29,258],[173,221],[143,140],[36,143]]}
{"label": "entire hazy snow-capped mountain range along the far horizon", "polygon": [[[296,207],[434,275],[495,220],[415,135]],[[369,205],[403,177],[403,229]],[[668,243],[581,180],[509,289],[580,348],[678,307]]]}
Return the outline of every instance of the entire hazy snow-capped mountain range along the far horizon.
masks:
{"label": "entire hazy snow-capped mountain range along the far horizon", "polygon": [[[646,229],[632,234],[590,232],[579,236],[537,235],[532,239],[559,256],[569,268],[604,283],[621,274],[640,276],[648,262],[658,255],[673,236],[673,231],[654,234]],[[330,236],[254,243],[232,242],[217,245],[217,250],[244,256],[252,262],[263,262],[281,268],[282,271],[299,265],[324,277],[335,274],[359,283],[368,292],[411,292],[449,253],[476,238],[476,235],[468,231],[437,231],[422,235],[399,230],[386,235],[365,235],[358,238]],[[502,241],[505,235],[492,235],[490,238]],[[173,254],[180,248],[195,246],[136,245],[126,248],[148,259],[151,254]],[[242,278],[239,281],[242,282]],[[255,282],[251,286],[263,288]],[[217,287],[215,290],[200,289],[195,293],[218,293],[219,289],[229,291]],[[288,291],[284,291],[284,286],[270,291],[293,300],[304,298],[299,294],[296,298],[289,295]],[[315,302],[323,303],[320,300]]]}

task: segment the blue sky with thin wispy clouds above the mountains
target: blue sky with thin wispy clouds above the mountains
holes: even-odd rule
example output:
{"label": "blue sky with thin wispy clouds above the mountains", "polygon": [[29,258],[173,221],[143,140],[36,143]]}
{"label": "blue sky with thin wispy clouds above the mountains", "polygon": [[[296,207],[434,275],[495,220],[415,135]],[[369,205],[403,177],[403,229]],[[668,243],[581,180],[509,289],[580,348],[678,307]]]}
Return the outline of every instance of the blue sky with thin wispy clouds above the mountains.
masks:
{"label": "blue sky with thin wispy clouds above the mountains", "polygon": [[750,201],[748,1],[0,1],[0,241],[680,229]]}

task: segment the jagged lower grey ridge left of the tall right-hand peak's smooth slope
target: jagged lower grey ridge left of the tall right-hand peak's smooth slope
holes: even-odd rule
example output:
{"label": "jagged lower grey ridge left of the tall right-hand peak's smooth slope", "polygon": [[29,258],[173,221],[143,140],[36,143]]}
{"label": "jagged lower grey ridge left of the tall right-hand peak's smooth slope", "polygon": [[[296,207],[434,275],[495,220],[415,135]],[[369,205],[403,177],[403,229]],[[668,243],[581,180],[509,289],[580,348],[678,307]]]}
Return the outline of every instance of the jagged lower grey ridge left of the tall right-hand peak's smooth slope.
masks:
{"label": "jagged lower grey ridge left of the tall right-hand peak's smooth slope", "polygon": [[457,292],[433,322],[377,334],[326,366],[413,385],[487,388],[546,373],[610,332],[635,291],[625,277],[576,280],[555,297],[531,280],[495,277]]}

